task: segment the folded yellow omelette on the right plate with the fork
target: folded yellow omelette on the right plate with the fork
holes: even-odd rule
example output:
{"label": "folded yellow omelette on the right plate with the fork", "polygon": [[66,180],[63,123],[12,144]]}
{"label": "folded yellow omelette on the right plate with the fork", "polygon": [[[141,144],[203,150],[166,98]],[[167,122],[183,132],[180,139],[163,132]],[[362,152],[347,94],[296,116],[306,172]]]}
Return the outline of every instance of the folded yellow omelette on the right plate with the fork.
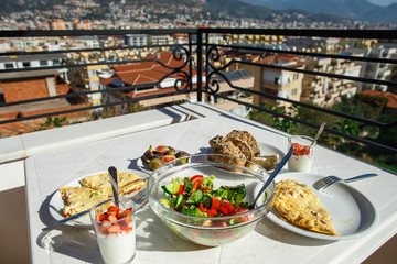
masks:
{"label": "folded yellow omelette on the right plate with the fork", "polygon": [[276,187],[275,208],[298,227],[331,235],[339,235],[330,213],[321,206],[313,190],[297,180],[280,180]]}

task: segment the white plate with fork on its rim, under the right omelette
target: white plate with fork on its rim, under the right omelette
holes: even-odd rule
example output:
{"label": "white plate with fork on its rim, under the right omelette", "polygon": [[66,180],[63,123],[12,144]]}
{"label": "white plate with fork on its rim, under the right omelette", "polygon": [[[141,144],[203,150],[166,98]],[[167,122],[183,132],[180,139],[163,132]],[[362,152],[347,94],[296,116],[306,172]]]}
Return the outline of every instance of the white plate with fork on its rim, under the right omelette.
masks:
{"label": "white plate with fork on its rim, under the right omelette", "polygon": [[308,173],[283,173],[276,177],[276,182],[294,179],[305,184],[314,190],[321,205],[330,212],[332,223],[340,235],[328,235],[301,229],[286,221],[279,212],[272,208],[267,217],[276,224],[314,239],[346,240],[355,239],[368,233],[376,224],[378,216],[373,204],[358,190],[347,184],[336,183],[324,190],[318,191],[313,183],[323,176]]}

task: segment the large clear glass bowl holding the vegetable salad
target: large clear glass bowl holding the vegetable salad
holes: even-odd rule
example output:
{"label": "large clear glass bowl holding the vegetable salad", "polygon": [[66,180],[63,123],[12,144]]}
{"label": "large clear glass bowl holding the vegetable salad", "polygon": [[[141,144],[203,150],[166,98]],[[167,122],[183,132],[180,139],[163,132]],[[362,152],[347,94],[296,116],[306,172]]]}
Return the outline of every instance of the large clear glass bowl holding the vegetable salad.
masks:
{"label": "large clear glass bowl holding the vegetable salad", "polygon": [[271,209],[276,184],[267,187],[254,209],[244,209],[269,174],[248,161],[245,166],[235,163],[230,156],[197,154],[162,165],[147,184],[150,207],[165,226],[191,242],[217,246],[243,238]]}

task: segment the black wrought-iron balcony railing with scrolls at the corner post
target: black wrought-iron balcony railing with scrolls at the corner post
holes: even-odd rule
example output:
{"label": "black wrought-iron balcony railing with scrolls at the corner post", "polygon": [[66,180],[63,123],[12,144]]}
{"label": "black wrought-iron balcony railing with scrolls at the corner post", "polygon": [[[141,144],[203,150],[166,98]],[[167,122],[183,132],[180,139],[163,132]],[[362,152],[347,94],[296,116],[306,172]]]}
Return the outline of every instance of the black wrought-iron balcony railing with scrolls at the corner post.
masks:
{"label": "black wrought-iron balcony railing with scrolls at the corner post", "polygon": [[[126,35],[129,34],[140,34],[140,35],[181,35],[183,36],[183,41],[180,43],[171,43],[171,44],[153,44],[148,43],[144,46],[138,45],[128,45],[124,41],[121,41]],[[335,116],[339,118],[352,120],[355,122],[360,122],[366,125],[385,129],[385,128],[395,128],[397,122],[393,121],[390,123],[384,123],[375,120],[368,120],[365,118],[360,118],[337,111],[330,110],[329,108],[323,108],[320,106],[315,106],[312,103],[307,103],[303,101],[291,100],[288,97],[277,96],[275,94],[267,94],[260,91],[260,89],[254,88],[244,88],[234,85],[234,81],[229,79],[227,75],[227,70],[234,65],[239,65],[242,67],[262,67],[268,70],[279,70],[279,72],[291,72],[298,73],[309,76],[321,76],[332,79],[334,82],[337,80],[361,82],[361,84],[374,84],[377,86],[385,86],[389,88],[396,88],[397,82],[391,80],[376,79],[376,78],[365,78],[361,76],[351,76],[351,75],[340,75],[334,73],[325,73],[319,70],[309,70],[299,67],[289,67],[288,65],[280,64],[271,64],[271,63],[258,63],[253,62],[247,58],[237,58],[237,57],[227,57],[223,54],[224,51],[238,51],[245,54],[288,54],[294,55],[297,57],[307,57],[307,58],[331,58],[331,59],[348,59],[352,62],[360,63],[375,63],[380,65],[397,65],[397,59],[394,58],[385,58],[385,57],[369,57],[369,56],[361,56],[361,55],[350,55],[343,53],[343,51],[335,52],[307,52],[307,51],[298,51],[298,50],[286,50],[280,48],[280,45],[254,45],[254,42],[245,42],[245,43],[235,43],[233,40],[234,35],[261,35],[261,36],[277,36],[276,40],[280,40],[281,37],[323,37],[323,38],[358,38],[358,40],[378,40],[379,42],[388,42],[391,44],[397,43],[397,31],[382,31],[382,30],[267,30],[267,29],[174,29],[174,30],[92,30],[92,31],[1,31],[0,37],[4,40],[29,40],[31,37],[60,37],[60,40],[64,40],[65,37],[73,38],[79,36],[96,36],[103,40],[109,38],[109,36],[116,37],[115,40],[119,40],[119,42],[114,43],[112,45],[100,45],[98,47],[88,47],[88,48],[63,48],[55,51],[12,51],[12,52],[3,52],[0,53],[0,57],[10,57],[10,56],[21,56],[21,55],[45,55],[45,54],[61,54],[64,57],[73,57],[74,54],[96,54],[97,57],[106,57],[104,54],[109,52],[154,52],[161,50],[172,51],[173,59],[180,62],[178,66],[168,65],[158,57],[153,56],[150,58],[147,57],[129,57],[129,58],[108,58],[108,59],[90,59],[90,61],[73,61],[65,59],[61,65],[55,66],[41,66],[41,67],[24,67],[24,68],[6,68],[0,69],[1,74],[11,74],[13,73],[18,79],[18,74],[23,72],[39,70],[39,69],[61,69],[61,68],[82,68],[87,66],[96,66],[96,65],[125,65],[125,64],[138,64],[144,62],[155,62],[161,65],[163,68],[167,68],[167,74],[164,74],[160,79],[152,82],[144,82],[140,85],[125,85],[120,87],[107,87],[99,90],[88,90],[88,89],[77,89],[74,92],[65,94],[65,95],[54,95],[50,97],[42,97],[35,99],[28,99],[14,102],[2,102],[0,103],[1,108],[19,106],[23,108],[26,103],[32,102],[43,102],[50,101],[53,99],[61,98],[78,98],[78,97],[87,97],[96,94],[109,94],[115,91],[130,91],[133,92],[136,90],[141,89],[150,89],[151,87],[159,87],[160,84],[168,79],[169,77],[178,76],[173,84],[173,89],[167,89],[163,92],[147,92],[142,94],[139,97],[125,97],[118,101],[108,101],[99,105],[90,105],[85,107],[76,107],[73,109],[58,110],[53,112],[37,113],[29,117],[17,117],[13,119],[3,119],[0,120],[1,124],[22,122],[26,120],[35,120],[42,119],[46,117],[55,117],[63,116],[73,112],[79,111],[95,111],[99,109],[104,109],[112,106],[121,106],[126,103],[135,103],[142,100],[154,99],[169,97],[174,95],[181,95],[186,92],[195,92],[198,101],[206,100],[208,96],[215,98],[222,98],[224,100],[233,101],[239,103],[242,106],[246,106],[255,111],[261,111],[265,113],[272,114],[275,117],[279,117],[286,120],[291,120],[293,122],[308,125],[310,128],[316,129],[319,128],[318,123],[308,122],[302,119],[298,119],[293,116],[287,114],[285,112],[279,112],[271,110],[269,108],[265,108],[260,105],[254,105],[247,102],[246,100],[239,100],[238,98],[225,96],[219,92],[219,86],[222,84],[227,84],[232,89],[240,92],[246,92],[249,95],[254,95],[261,98],[267,98],[275,101],[283,101],[291,103],[293,106],[299,106],[300,108],[311,109],[316,112],[323,112],[326,114]],[[218,42],[214,42],[216,37],[217,40],[223,40]],[[244,37],[243,37],[244,38]],[[174,40],[179,40],[174,37]],[[242,40],[242,37],[239,37]],[[256,40],[254,37],[254,40]],[[271,38],[270,38],[271,40]],[[195,74],[196,73],[196,74]],[[259,76],[260,77],[260,76]],[[0,80],[1,84],[1,80]],[[347,140],[352,140],[367,146],[374,146],[380,148],[383,151],[387,151],[393,155],[397,154],[396,146],[382,144],[373,140],[368,140],[362,136],[352,135],[348,133],[340,132],[333,130],[331,128],[325,128],[325,132],[342,136]]]}

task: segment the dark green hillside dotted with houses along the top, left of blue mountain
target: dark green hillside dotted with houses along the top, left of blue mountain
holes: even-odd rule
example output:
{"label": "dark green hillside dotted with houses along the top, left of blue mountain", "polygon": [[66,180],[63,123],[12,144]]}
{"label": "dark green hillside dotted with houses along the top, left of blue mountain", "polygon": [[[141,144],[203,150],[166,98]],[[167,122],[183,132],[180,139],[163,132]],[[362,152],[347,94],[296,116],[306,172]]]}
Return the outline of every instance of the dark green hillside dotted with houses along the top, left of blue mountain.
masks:
{"label": "dark green hillside dotted with houses along the top, left of blue mountain", "polygon": [[[81,0],[84,2],[85,0]],[[273,20],[275,14],[279,14],[283,16],[286,22],[291,21],[302,21],[310,22],[336,22],[343,23],[346,20],[342,16],[337,16],[339,14],[330,14],[319,15],[318,13],[309,13],[307,11],[285,11],[285,10],[272,10],[262,6],[254,6],[253,3],[262,4],[264,2],[268,2],[266,0],[92,0],[92,2],[96,2],[99,7],[92,8],[83,18],[79,19],[89,19],[104,18],[107,13],[117,12],[115,7],[119,7],[122,9],[124,6],[132,7],[132,8],[141,8],[146,7],[146,11],[148,14],[155,15],[167,15],[172,13],[185,12],[189,14],[189,11],[194,9],[201,9],[203,14],[212,14],[212,19],[243,19],[243,18],[251,18],[257,20]],[[272,0],[271,0],[272,1]],[[281,2],[294,2],[292,0],[278,0]],[[308,2],[310,0],[301,0],[303,2]],[[316,2],[318,0],[312,0]],[[320,2],[322,2],[321,0]],[[337,1],[337,0],[333,0]],[[360,1],[360,0],[353,0]],[[364,0],[361,0],[364,1]],[[63,9],[67,10],[67,14],[69,16],[74,16],[75,13],[73,9],[76,8],[78,2],[74,1],[63,1],[63,0],[0,0],[0,14],[8,15],[13,12],[20,12],[24,10],[34,10],[35,12],[40,10],[52,10],[54,7],[60,9],[63,6]],[[112,8],[111,8],[112,7]],[[87,8],[89,9],[89,8]],[[157,12],[160,10],[161,12]],[[165,10],[165,13],[163,12]],[[66,15],[66,14],[65,14]],[[151,15],[153,16],[153,15]],[[204,15],[202,15],[204,16]],[[67,19],[67,18],[66,18]]]}

